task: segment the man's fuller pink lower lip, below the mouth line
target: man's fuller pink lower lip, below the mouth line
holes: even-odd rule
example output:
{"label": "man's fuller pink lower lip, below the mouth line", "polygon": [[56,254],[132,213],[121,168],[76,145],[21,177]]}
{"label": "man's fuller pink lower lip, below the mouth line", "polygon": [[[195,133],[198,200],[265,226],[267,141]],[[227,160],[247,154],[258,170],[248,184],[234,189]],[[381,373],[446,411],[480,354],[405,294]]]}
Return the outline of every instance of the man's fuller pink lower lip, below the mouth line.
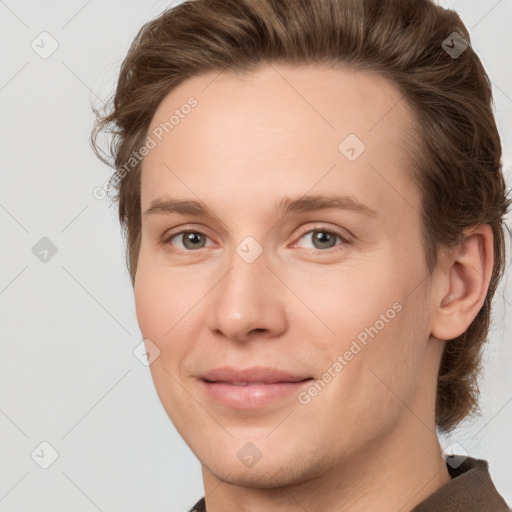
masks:
{"label": "man's fuller pink lower lip, below the mouth line", "polygon": [[254,384],[234,386],[225,382],[201,380],[207,395],[216,402],[235,409],[259,409],[280,398],[297,394],[309,385],[312,379],[300,382],[276,382],[274,384]]}

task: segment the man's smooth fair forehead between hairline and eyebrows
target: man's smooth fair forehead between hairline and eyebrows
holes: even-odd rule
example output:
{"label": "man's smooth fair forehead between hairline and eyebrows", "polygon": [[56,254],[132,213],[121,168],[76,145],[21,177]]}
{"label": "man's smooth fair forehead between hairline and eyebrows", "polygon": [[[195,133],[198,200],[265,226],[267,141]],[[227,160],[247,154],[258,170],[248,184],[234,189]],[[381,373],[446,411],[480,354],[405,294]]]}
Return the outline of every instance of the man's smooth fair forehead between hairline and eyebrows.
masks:
{"label": "man's smooth fair forehead between hairline and eyebrows", "polygon": [[241,195],[256,181],[298,193],[320,180],[324,189],[343,183],[352,193],[371,191],[373,201],[398,199],[407,210],[403,195],[415,201],[406,178],[414,129],[402,93],[376,73],[272,64],[195,76],[151,120],[155,147],[142,165],[142,202],[166,184],[190,195],[180,175],[201,192],[220,191],[222,180],[224,190],[229,183]]}

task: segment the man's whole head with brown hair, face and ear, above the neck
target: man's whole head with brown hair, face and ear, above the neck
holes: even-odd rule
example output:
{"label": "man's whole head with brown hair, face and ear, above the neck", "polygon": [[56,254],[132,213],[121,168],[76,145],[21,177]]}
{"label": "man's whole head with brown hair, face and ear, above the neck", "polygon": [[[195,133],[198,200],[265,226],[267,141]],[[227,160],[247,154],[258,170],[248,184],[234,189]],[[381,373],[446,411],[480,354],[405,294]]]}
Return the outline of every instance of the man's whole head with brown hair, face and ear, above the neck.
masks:
{"label": "man's whole head with brown hair, face and ear, above the neck", "polygon": [[[509,201],[490,81],[453,33],[430,0],[195,0],[133,41],[92,140],[157,392],[213,472],[254,445],[268,465],[240,481],[313,475],[411,411],[441,432],[477,411]],[[223,365],[311,381],[235,410],[202,387]]]}

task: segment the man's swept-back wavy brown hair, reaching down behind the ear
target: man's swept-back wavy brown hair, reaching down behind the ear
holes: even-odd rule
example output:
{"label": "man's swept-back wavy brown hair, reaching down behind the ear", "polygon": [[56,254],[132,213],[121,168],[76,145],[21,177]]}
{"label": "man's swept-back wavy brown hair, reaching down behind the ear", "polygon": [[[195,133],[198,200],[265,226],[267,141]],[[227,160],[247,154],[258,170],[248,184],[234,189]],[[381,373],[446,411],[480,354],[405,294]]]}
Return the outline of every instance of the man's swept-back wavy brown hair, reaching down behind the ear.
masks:
{"label": "man's swept-back wavy brown hair, reaching down behind the ear", "polygon": [[[464,41],[465,51],[449,53]],[[91,135],[98,157],[116,169],[110,185],[132,283],[140,247],[140,161],[128,170],[126,162],[144,144],[158,105],[189,77],[272,62],[372,71],[400,90],[419,134],[410,134],[410,156],[430,272],[439,247],[460,242],[464,228],[492,227],[495,259],[485,302],[467,331],[447,343],[440,365],[436,423],[450,432],[478,410],[477,377],[503,273],[510,200],[490,80],[457,13],[432,0],[189,0],[146,23],[122,63],[107,111],[95,109]],[[97,143],[102,131],[112,135],[107,156]]]}

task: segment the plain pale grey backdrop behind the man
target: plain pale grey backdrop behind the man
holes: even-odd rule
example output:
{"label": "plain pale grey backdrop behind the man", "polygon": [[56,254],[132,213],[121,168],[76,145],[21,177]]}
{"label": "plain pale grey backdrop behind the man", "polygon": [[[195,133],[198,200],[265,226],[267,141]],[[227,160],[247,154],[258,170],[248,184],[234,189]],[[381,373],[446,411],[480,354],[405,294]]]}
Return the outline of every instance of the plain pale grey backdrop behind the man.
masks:
{"label": "plain pale grey backdrop behind the man", "polygon": [[[512,2],[440,4],[460,13],[492,80],[510,184]],[[93,195],[111,170],[88,141],[91,103],[109,97],[133,37],[168,6],[0,1],[3,512],[185,511],[203,495],[200,464],[133,353],[142,338],[116,212]],[[441,443],[488,460],[512,504],[509,276],[494,302],[483,414]]]}

